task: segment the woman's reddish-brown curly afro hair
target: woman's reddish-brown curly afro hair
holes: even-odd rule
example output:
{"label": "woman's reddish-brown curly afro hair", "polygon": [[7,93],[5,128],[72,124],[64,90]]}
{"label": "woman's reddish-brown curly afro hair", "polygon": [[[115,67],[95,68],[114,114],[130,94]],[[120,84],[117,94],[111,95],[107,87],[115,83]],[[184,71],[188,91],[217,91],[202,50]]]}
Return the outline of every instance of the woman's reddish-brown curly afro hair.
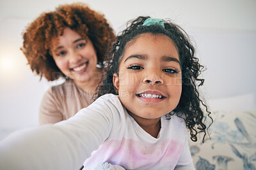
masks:
{"label": "woman's reddish-brown curly afro hair", "polygon": [[[97,52],[98,63],[104,62],[108,45],[115,39],[115,33],[104,15],[91,10],[86,4],[64,4],[55,11],[42,13],[23,32],[23,46],[20,48],[36,74],[45,76],[48,81],[64,76],[56,66],[50,53],[52,38],[63,34],[69,27],[82,36],[89,38]],[[55,75],[55,76],[54,76]]]}

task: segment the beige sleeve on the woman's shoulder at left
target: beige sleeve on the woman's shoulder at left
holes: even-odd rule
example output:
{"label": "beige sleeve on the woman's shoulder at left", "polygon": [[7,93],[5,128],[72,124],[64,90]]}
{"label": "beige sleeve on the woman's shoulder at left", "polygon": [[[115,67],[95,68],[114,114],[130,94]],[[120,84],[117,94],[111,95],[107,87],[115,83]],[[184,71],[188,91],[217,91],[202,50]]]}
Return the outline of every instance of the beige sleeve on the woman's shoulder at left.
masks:
{"label": "beige sleeve on the woman's shoulder at left", "polygon": [[56,92],[50,88],[45,92],[39,109],[39,124],[54,124],[63,120],[63,113],[56,99]]}

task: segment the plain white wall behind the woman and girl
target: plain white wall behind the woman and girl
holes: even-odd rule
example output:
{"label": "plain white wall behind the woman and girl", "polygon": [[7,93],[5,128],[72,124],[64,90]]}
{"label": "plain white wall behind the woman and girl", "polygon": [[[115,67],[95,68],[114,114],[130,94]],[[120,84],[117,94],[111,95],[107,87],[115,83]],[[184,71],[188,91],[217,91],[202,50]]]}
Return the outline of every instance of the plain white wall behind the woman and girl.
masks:
{"label": "plain white wall behind the woman and girl", "polygon": [[[49,87],[31,73],[19,48],[21,33],[43,11],[70,0],[0,0],[0,129],[37,125],[38,106]],[[206,98],[256,94],[256,1],[254,0],[88,0],[116,31],[138,15],[171,18],[195,43],[207,66]],[[6,130],[7,131],[7,130]],[[1,138],[1,136],[0,136]]]}

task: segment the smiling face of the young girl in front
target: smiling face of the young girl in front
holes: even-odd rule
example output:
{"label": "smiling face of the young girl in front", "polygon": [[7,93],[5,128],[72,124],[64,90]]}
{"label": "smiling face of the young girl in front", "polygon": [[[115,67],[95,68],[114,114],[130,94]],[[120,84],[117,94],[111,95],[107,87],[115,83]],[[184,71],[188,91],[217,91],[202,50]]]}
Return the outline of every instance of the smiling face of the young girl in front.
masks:
{"label": "smiling face of the young girl in front", "polygon": [[159,120],[175,109],[182,76],[179,53],[172,39],[144,33],[127,43],[113,83],[120,101],[137,122]]}

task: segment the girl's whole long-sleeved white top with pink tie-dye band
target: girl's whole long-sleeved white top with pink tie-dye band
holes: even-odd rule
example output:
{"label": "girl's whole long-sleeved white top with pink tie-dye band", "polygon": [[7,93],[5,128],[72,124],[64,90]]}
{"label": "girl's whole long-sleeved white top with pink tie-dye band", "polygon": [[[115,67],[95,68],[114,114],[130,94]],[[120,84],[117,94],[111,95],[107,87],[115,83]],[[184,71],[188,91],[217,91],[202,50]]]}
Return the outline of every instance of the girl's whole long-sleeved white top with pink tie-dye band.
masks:
{"label": "girl's whole long-sleeved white top with pink tie-dye band", "polygon": [[154,138],[113,94],[68,120],[15,132],[0,143],[0,169],[79,169],[83,162],[84,169],[104,162],[125,169],[195,169],[182,118],[161,117]]}

